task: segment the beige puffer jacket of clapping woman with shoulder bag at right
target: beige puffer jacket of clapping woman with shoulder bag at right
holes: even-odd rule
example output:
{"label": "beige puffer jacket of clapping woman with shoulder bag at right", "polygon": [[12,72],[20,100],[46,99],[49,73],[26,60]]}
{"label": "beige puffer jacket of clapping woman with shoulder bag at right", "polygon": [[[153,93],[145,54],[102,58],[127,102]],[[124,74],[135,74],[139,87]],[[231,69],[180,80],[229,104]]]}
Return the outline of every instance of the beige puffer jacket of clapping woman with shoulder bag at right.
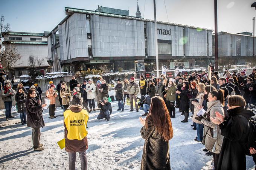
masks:
{"label": "beige puffer jacket of clapping woman with shoulder bag at right", "polygon": [[221,152],[223,136],[219,126],[214,124],[210,117],[216,117],[215,112],[219,112],[225,117],[224,110],[219,100],[209,101],[207,106],[206,114],[204,114],[204,118],[201,120],[202,124],[204,124],[203,136],[205,136],[202,143],[204,142],[205,148],[209,151],[219,154]]}

